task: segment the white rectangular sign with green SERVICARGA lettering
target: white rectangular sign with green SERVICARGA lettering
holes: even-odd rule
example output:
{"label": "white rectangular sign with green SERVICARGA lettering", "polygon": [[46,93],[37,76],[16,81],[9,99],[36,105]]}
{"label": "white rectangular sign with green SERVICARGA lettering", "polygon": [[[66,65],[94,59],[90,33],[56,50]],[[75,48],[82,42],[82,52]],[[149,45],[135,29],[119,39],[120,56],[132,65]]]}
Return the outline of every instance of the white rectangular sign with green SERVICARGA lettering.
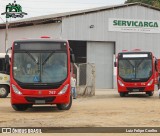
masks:
{"label": "white rectangular sign with green SERVICARGA lettering", "polygon": [[108,24],[113,32],[160,33],[159,20],[109,18]]}

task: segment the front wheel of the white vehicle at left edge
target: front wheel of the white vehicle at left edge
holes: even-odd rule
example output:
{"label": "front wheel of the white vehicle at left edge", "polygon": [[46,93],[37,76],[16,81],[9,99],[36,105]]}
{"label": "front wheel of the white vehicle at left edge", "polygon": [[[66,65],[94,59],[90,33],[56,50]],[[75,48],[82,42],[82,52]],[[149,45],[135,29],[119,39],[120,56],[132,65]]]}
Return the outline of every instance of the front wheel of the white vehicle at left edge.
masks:
{"label": "front wheel of the white vehicle at left edge", "polygon": [[6,98],[10,92],[10,88],[7,85],[0,85],[0,98]]}

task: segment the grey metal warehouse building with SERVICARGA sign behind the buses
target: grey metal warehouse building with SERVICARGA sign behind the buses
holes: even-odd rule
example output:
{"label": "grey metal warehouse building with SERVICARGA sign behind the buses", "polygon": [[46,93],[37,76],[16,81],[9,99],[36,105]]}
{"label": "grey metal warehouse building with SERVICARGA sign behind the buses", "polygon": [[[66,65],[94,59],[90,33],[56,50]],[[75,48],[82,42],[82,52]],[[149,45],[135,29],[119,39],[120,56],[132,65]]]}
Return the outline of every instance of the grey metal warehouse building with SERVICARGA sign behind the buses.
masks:
{"label": "grey metal warehouse building with SERVICARGA sign behind the buses", "polygon": [[[43,35],[68,39],[76,63],[95,63],[96,88],[115,88],[118,52],[139,48],[160,57],[159,19],[160,9],[141,3],[34,17],[9,24],[8,46]],[[0,52],[4,45],[5,24],[0,24]]]}

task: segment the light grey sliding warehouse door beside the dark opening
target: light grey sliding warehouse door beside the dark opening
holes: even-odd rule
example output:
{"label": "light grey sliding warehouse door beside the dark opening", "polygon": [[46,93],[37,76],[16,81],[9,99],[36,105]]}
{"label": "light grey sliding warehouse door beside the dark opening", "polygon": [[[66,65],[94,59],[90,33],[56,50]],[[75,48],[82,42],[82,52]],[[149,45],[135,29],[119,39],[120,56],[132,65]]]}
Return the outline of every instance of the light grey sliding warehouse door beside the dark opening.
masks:
{"label": "light grey sliding warehouse door beside the dark opening", "polygon": [[113,88],[114,43],[87,42],[87,62],[95,63],[96,88]]}

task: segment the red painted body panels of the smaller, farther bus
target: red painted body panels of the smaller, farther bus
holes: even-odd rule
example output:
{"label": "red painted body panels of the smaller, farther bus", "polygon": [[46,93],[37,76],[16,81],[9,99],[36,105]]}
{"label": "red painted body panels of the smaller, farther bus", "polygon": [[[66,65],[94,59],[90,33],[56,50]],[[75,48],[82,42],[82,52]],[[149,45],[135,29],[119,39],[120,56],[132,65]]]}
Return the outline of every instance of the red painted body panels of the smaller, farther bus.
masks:
{"label": "red painted body panels of the smaller, farther bus", "polygon": [[[138,51],[125,51],[124,53],[137,53]],[[141,53],[143,53],[142,51],[140,51]],[[123,54],[123,52],[121,52],[121,54]],[[152,53],[151,53],[152,54]],[[138,58],[137,58],[138,59]],[[132,82],[126,82],[124,81],[120,75],[119,75],[119,66],[118,66],[118,61],[119,61],[119,54],[117,57],[117,62],[116,62],[116,66],[117,66],[117,89],[119,93],[131,93],[131,92],[153,92],[154,91],[154,85],[157,82],[157,72],[155,70],[155,57],[152,55],[152,75],[150,76],[150,78],[143,82],[143,81],[132,81]],[[120,81],[120,82],[119,82]],[[152,81],[152,83],[151,83]],[[151,84],[149,84],[151,83]]]}

